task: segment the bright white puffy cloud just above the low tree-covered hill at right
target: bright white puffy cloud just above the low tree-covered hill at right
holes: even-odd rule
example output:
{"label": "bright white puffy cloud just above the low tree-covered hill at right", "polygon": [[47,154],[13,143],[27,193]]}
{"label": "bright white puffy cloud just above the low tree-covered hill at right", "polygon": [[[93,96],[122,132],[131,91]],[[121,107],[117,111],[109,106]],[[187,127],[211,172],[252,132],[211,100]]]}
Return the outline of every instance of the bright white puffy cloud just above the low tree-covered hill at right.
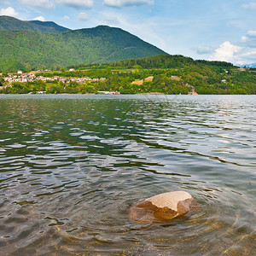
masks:
{"label": "bright white puffy cloud just above the low tree-covered hill at right", "polygon": [[210,56],[210,60],[234,62],[235,54],[240,50],[240,46],[230,44],[229,41],[226,41],[223,44],[220,44],[218,49],[215,49],[213,55]]}

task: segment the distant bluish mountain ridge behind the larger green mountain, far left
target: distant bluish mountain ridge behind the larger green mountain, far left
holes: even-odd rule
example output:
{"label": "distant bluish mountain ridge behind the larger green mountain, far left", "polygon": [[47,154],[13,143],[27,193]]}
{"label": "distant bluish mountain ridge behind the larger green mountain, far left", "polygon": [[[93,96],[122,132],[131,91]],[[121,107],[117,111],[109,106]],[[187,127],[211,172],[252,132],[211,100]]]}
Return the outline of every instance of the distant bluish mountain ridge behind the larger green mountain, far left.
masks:
{"label": "distant bluish mountain ridge behind the larger green mountain, far left", "polygon": [[35,32],[64,32],[69,30],[52,21],[23,21],[9,16],[0,16],[0,31],[26,29]]}

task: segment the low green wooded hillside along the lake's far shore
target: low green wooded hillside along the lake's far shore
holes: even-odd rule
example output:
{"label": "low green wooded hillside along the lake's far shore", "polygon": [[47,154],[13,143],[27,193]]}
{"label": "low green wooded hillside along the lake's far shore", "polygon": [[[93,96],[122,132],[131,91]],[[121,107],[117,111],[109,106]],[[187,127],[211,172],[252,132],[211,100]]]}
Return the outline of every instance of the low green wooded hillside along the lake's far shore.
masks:
{"label": "low green wooded hillside along the lake's far shore", "polygon": [[[72,71],[69,71],[70,68],[35,73],[37,77],[56,78],[51,81],[16,82],[11,86],[6,85],[4,77],[8,74],[3,73],[0,93],[41,91],[83,94],[118,90],[122,94],[188,94],[192,91],[197,94],[256,94],[255,69],[240,68],[221,61],[194,61],[182,55],[156,55],[110,64],[79,65]],[[63,82],[58,79],[60,77],[98,80]]]}

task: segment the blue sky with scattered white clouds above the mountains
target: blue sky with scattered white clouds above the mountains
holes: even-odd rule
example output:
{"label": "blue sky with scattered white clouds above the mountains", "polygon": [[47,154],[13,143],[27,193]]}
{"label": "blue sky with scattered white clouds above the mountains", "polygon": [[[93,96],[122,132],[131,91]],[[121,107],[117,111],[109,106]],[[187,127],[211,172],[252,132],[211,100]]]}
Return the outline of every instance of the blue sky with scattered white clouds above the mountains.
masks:
{"label": "blue sky with scattered white clouds above the mountains", "polygon": [[256,0],[1,0],[0,15],[120,27],[171,55],[256,63]]}

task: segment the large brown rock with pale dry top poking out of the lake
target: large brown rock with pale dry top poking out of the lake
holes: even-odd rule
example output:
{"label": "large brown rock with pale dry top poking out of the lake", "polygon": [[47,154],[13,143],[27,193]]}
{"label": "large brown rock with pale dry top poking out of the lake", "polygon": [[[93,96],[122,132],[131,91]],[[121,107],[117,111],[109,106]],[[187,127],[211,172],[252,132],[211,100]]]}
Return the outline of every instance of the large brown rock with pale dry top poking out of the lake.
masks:
{"label": "large brown rock with pale dry top poking out of the lake", "polygon": [[154,195],[131,207],[130,218],[142,223],[176,218],[189,212],[193,202],[193,197],[185,191]]}

